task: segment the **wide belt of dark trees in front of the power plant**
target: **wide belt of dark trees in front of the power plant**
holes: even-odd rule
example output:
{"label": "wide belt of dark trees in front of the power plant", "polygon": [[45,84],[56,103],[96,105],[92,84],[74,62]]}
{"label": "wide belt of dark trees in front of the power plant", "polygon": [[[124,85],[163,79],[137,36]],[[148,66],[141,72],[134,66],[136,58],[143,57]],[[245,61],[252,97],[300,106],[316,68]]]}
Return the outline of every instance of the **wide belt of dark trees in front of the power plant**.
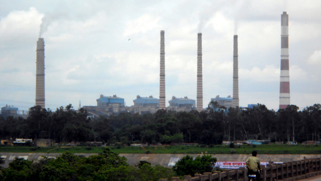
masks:
{"label": "wide belt of dark trees in front of the power plant", "polygon": [[299,110],[289,105],[278,111],[265,105],[253,108],[225,108],[210,102],[207,110],[174,112],[158,110],[139,115],[119,113],[91,118],[84,109],[73,110],[69,104],[56,111],[40,106],[30,108],[27,119],[0,117],[0,137],[50,138],[55,142],[101,141],[107,144],[199,143],[259,139],[270,142],[319,140],[321,105]]}

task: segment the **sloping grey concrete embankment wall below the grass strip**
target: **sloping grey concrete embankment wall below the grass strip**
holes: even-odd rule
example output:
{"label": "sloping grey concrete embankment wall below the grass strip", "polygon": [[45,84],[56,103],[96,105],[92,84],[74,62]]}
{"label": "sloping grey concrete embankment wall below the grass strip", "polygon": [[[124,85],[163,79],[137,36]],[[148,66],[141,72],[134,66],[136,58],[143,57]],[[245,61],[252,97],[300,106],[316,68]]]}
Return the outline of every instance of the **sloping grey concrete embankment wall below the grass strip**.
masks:
{"label": "sloping grey concrete embankment wall below the grass strip", "polygon": [[[14,160],[15,157],[24,158],[27,160],[39,160],[41,157],[57,157],[61,153],[0,153],[1,157],[5,159],[5,163],[1,166],[4,168],[8,167],[8,164]],[[75,155],[83,155],[89,157],[91,155],[97,155],[97,153],[76,153]],[[201,154],[189,154],[189,156],[197,157]],[[139,161],[144,160],[150,162],[152,165],[160,164],[163,167],[172,167],[175,162],[186,156],[186,154],[119,154],[127,158],[129,165],[137,164]],[[217,161],[245,161],[247,157],[251,155],[247,154],[215,154]],[[257,155],[261,162],[289,162],[302,160],[304,158],[319,158],[321,154],[317,155]]]}

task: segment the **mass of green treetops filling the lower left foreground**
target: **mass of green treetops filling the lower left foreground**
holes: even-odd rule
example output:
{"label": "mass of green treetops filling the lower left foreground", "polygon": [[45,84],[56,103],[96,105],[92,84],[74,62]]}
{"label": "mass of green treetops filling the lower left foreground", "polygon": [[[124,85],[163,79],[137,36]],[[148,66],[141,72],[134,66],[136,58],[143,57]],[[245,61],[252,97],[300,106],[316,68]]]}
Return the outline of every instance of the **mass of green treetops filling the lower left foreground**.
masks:
{"label": "mass of green treetops filling the lower left foreground", "polygon": [[15,158],[9,167],[2,169],[0,180],[13,181],[157,181],[170,178],[174,172],[169,168],[148,162],[139,163],[139,167],[129,166],[125,157],[119,157],[108,148],[99,155],[80,157],[66,152],[56,159],[44,158],[38,162]]}

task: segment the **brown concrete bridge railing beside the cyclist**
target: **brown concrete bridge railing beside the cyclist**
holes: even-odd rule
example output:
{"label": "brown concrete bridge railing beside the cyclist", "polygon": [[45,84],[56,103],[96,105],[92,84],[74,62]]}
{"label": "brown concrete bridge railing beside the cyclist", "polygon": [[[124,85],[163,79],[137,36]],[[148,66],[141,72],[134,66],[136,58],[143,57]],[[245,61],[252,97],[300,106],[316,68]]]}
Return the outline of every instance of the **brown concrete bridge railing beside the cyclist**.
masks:
{"label": "brown concrete bridge railing beside the cyclist", "polygon": [[[321,174],[321,158],[311,158],[278,164],[262,165],[261,181],[299,180]],[[183,176],[183,181],[247,181],[247,169],[224,169],[222,172],[195,174]],[[167,179],[159,179],[167,181]],[[171,181],[181,181],[172,177]]]}

